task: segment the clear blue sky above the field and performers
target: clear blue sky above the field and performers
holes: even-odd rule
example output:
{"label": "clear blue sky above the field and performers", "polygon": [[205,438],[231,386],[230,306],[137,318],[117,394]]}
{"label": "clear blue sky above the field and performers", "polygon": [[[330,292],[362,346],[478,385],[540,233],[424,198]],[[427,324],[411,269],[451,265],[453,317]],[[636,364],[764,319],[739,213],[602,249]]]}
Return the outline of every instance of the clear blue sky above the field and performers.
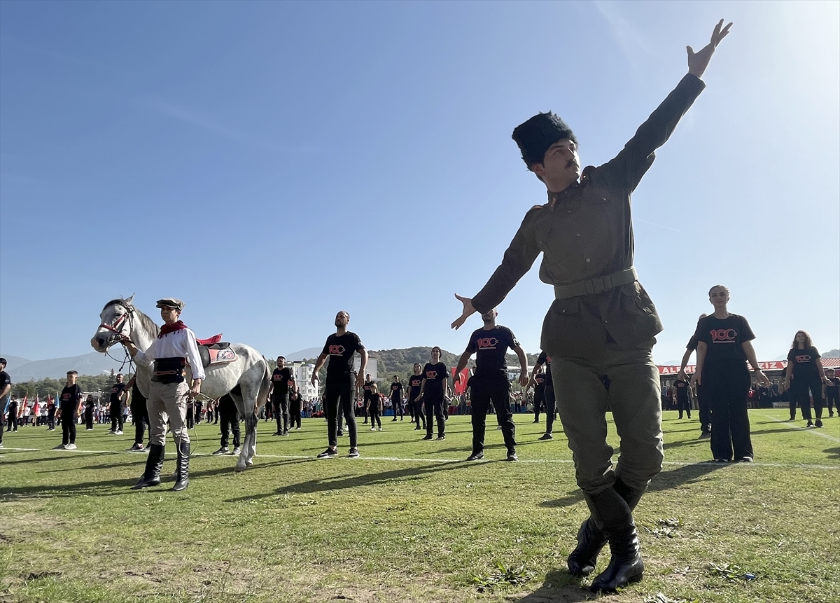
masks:
{"label": "clear blue sky above the field and performers", "polygon": [[[559,113],[622,148],[732,20],[633,197],[678,360],[732,290],[759,359],[840,347],[838,3],[0,3],[0,350],[85,354],[102,305],[186,301],[199,337],[460,351],[544,186],[512,129]],[[538,263],[499,307],[538,352]],[[466,333],[465,333],[466,331]]]}

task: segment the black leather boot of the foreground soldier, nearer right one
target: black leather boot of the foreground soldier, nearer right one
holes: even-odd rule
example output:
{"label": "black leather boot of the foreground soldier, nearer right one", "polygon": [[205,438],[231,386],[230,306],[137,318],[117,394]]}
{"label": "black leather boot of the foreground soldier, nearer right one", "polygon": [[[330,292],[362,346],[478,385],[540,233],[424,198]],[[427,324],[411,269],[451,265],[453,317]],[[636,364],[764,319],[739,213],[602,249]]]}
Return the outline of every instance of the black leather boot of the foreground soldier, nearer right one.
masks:
{"label": "black leather boot of the foreground soldier, nearer right one", "polygon": [[610,564],[592,581],[591,590],[614,591],[630,582],[638,582],[644,573],[633,512],[613,488],[590,495],[591,510],[603,523],[604,536],[610,543]]}

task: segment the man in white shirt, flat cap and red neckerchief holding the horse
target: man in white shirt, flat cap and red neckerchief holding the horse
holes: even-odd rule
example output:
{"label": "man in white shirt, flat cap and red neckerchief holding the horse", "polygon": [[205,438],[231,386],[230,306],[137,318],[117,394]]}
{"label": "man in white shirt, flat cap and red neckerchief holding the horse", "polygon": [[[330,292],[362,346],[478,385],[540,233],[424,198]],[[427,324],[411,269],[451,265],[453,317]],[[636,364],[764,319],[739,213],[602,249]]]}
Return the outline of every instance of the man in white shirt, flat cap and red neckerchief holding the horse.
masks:
{"label": "man in white shirt, flat cap and red neckerchief holding the horse", "polygon": [[[186,403],[202,391],[204,368],[198,355],[196,335],[179,320],[184,302],[173,297],[158,300],[164,325],[149,349],[140,351],[128,337],[123,344],[137,364],[152,370],[152,385],[146,406],[149,409],[149,458],[146,469],[134,490],[160,484],[160,469],[166,447],[166,417],[178,451],[176,482],[172,490],[180,492],[190,484],[190,434],[186,430]],[[192,384],[186,384],[186,364],[192,371]]]}

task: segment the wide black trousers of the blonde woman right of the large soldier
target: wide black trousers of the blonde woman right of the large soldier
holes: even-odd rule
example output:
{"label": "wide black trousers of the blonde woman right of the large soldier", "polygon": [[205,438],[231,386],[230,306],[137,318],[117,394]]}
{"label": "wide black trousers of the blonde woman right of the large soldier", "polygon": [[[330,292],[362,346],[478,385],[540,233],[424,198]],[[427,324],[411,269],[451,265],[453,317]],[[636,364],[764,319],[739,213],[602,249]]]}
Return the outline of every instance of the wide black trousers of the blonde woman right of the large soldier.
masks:
{"label": "wide black trousers of the blonde woman right of the large soldier", "polygon": [[749,371],[742,360],[707,364],[702,385],[711,406],[711,455],[715,459],[753,457],[749,437]]}

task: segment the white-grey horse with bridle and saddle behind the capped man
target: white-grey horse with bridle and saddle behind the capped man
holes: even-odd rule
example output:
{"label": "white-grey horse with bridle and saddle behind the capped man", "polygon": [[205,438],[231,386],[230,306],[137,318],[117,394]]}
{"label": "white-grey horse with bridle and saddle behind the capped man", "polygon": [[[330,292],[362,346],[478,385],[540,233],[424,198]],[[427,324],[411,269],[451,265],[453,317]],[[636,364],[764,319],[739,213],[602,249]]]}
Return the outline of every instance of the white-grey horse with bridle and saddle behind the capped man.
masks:
{"label": "white-grey horse with bridle and saddle behind the capped man", "polygon": [[[124,335],[134,342],[138,349],[149,349],[160,333],[152,319],[135,308],[129,299],[111,300],[102,308],[99,315],[99,328],[91,338],[91,345],[97,352],[107,352]],[[236,353],[236,359],[227,364],[206,367],[202,381],[202,396],[215,399],[230,394],[236,401],[239,416],[245,419],[245,437],[242,452],[236,463],[237,471],[254,464],[257,448],[257,412],[268,399],[271,385],[271,372],[265,358],[255,349],[243,343],[231,343],[230,349]],[[151,372],[144,366],[137,366],[137,386],[140,393],[149,396]],[[187,383],[192,375],[187,367]],[[235,389],[234,389],[235,388]]]}

